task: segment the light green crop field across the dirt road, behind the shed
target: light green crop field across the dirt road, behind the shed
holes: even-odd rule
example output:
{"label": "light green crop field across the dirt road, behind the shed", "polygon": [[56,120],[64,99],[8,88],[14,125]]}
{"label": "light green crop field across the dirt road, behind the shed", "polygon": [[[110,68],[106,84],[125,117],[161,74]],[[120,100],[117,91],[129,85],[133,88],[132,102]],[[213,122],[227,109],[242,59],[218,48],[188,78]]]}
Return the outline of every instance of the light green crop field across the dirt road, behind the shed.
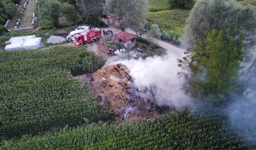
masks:
{"label": "light green crop field across the dirt road, behind the shed", "polygon": [[[183,28],[186,19],[189,16],[189,10],[164,10],[161,12],[149,12],[148,24],[151,26],[156,23],[163,34],[169,34],[175,39],[182,37]],[[168,40],[168,39],[166,39]]]}

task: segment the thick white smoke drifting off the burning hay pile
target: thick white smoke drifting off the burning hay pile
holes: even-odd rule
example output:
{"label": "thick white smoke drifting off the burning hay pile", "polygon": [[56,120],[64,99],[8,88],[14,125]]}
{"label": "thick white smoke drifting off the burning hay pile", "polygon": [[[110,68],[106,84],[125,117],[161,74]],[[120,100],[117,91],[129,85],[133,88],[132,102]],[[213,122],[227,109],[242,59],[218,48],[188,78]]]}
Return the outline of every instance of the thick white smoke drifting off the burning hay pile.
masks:
{"label": "thick white smoke drifting off the burning hay pile", "polygon": [[185,80],[177,75],[178,72],[183,71],[177,66],[177,58],[176,54],[168,53],[166,56],[148,57],[145,60],[123,59],[107,63],[126,65],[134,84],[138,88],[153,90],[158,105],[181,108],[192,104],[192,99],[182,90]]}

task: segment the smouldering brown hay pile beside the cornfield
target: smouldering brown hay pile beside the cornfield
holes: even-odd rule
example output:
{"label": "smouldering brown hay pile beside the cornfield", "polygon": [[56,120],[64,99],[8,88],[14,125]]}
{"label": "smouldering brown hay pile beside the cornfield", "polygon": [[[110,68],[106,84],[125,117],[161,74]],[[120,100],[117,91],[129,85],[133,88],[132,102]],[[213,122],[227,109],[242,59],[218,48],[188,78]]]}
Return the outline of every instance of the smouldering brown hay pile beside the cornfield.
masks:
{"label": "smouldering brown hay pile beside the cornfield", "polygon": [[161,112],[154,92],[133,84],[130,70],[123,64],[104,66],[92,74],[92,85],[102,104],[114,111],[116,120],[152,118]]}

